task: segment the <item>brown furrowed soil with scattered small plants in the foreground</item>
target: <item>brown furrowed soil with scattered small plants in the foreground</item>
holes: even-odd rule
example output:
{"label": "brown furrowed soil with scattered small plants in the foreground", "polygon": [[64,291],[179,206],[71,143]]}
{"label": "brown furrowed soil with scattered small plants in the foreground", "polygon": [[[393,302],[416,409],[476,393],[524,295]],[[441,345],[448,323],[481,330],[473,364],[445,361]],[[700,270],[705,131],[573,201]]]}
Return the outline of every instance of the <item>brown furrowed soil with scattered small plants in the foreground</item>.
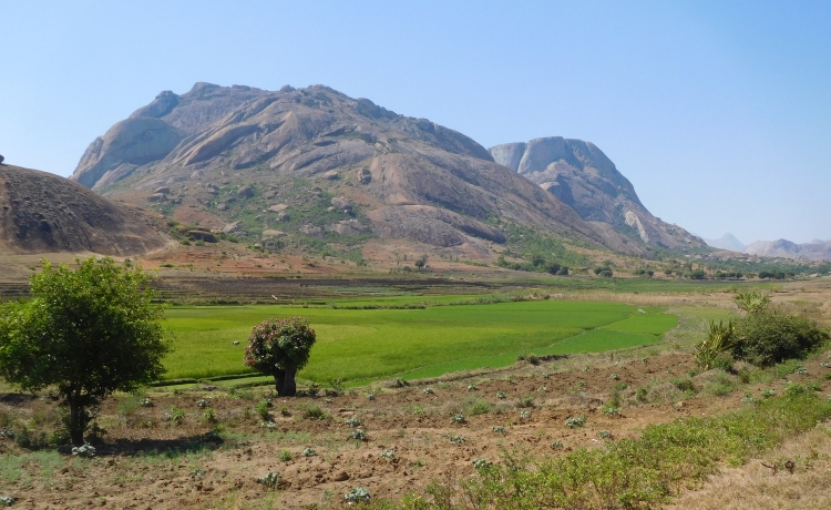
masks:
{"label": "brown furrowed soil with scattered small plants in the foreground", "polygon": [[[804,384],[831,371],[819,363],[804,364],[811,376],[787,378]],[[106,434],[93,459],[72,457],[66,447],[31,452],[0,439],[0,493],[27,509],[341,508],[343,496],[358,486],[373,500],[399,501],[408,492],[423,493],[431,480],[474,476],[476,459],[496,462],[511,451],[564,455],[603,445],[601,431],[614,441],[637,437],[650,424],[742,405],[741,390],[715,389],[716,384],[740,385],[736,376],[718,370],[690,378],[695,395],[678,390],[673,381],[689,378],[694,368],[691,355],[652,347],[519,363],[403,387],[388,382],[340,396],[321,390],[317,397],[271,397],[267,420],[273,428],[255,410],[271,394],[268,388],[151,392],[152,407],[142,407],[136,396],[117,396],[101,409],[98,426]],[[780,382],[741,389],[756,395],[779,389]],[[619,411],[604,414],[616,386],[626,386],[618,390]],[[648,402],[636,398],[637,388],[645,388]],[[823,380],[820,391],[829,390],[831,382]],[[7,422],[29,420],[48,429],[59,419],[48,396],[2,394],[0,401]],[[208,408],[216,422],[204,418]],[[184,412],[181,420],[177,411]],[[521,417],[522,411],[530,417]],[[458,414],[463,422],[454,421]],[[586,417],[584,427],[566,427],[565,420],[575,416]],[[362,425],[348,426],[350,418]],[[367,440],[352,439],[357,428]],[[461,442],[451,442],[453,437]],[[552,447],[555,441],[562,447]],[[304,457],[305,448],[316,455]],[[382,457],[390,450],[391,458]],[[268,472],[279,475],[275,488],[257,482]]]}

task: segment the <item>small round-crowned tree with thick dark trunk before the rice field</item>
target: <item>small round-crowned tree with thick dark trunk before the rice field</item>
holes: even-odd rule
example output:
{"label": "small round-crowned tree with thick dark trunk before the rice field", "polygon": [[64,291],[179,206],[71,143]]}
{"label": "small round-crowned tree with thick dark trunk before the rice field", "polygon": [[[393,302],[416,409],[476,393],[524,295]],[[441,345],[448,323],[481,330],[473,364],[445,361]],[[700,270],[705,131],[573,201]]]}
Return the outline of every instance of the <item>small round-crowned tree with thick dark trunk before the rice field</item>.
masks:
{"label": "small round-crowned tree with thick dark trunk before the rice field", "polygon": [[309,360],[317,336],[302,317],[268,319],[254,326],[245,349],[245,364],[274,377],[277,395],[297,394],[295,376]]}

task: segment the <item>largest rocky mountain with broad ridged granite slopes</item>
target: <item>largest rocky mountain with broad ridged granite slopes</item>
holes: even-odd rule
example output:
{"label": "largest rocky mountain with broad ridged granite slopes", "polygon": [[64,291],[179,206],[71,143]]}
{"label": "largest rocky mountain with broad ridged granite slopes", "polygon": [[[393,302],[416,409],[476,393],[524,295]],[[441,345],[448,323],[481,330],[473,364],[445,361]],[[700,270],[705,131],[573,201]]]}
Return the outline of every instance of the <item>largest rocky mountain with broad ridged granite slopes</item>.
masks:
{"label": "largest rocky mountain with broad ridged granite slopes", "polygon": [[93,141],[71,178],[278,249],[342,254],[381,238],[490,256],[524,225],[652,256],[470,137],[324,85],[162,92]]}

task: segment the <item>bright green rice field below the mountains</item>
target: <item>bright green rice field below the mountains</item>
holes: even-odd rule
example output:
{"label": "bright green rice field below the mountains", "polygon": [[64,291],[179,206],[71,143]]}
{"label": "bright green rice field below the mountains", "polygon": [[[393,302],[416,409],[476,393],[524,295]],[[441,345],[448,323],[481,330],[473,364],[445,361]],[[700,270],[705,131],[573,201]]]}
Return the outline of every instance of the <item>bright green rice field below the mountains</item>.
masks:
{"label": "bright green rice field below the mountains", "polygon": [[[435,299],[433,299],[435,300]],[[207,378],[250,371],[243,354],[252,327],[271,317],[300,315],[317,332],[299,377],[326,382],[390,377],[435,377],[501,367],[521,354],[597,353],[654,344],[678,317],[650,308],[597,302],[509,302],[416,309],[362,309],[418,304],[416,297],[339,300],[327,307],[279,305],[172,307],[176,336],[166,378]],[[337,306],[337,308],[335,307]],[[343,308],[349,307],[349,308]],[[239,345],[234,345],[238,340]]]}

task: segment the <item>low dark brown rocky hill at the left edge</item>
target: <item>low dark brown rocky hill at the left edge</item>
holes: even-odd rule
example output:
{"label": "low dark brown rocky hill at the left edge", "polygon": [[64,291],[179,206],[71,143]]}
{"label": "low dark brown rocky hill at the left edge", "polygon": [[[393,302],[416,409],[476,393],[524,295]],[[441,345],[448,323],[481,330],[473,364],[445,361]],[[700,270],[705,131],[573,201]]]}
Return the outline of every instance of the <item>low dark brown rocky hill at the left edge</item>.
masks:
{"label": "low dark brown rocky hill at the left edge", "polygon": [[63,177],[0,165],[0,253],[137,255],[167,243],[151,223]]}

